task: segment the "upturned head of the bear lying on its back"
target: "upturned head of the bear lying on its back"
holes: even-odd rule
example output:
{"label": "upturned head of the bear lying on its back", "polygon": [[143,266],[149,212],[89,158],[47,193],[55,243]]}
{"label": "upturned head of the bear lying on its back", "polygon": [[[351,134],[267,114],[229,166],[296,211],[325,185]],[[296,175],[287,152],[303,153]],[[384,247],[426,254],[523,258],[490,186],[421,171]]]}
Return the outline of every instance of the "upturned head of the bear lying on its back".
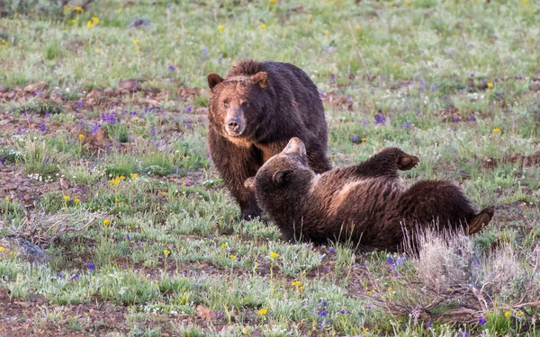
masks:
{"label": "upturned head of the bear lying on its back", "polygon": [[284,150],[268,159],[244,186],[256,192],[259,206],[268,211],[268,208],[293,203],[308,193],[314,177],[315,173],[308,164],[306,146],[300,138],[293,137]]}

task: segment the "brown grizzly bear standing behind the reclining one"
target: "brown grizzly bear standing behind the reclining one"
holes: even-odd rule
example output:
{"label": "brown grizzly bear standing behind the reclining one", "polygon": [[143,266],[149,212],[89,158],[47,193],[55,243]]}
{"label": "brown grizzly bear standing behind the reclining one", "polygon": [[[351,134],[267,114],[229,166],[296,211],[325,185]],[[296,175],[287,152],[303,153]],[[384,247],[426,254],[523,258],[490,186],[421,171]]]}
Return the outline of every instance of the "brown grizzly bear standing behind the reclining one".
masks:
{"label": "brown grizzly bear standing behind the reclining one", "polygon": [[302,137],[311,169],[331,169],[327,123],[317,87],[299,67],[245,60],[225,78],[207,76],[210,86],[208,146],[225,186],[238,201],[241,217],[261,214],[249,177],[291,137]]}

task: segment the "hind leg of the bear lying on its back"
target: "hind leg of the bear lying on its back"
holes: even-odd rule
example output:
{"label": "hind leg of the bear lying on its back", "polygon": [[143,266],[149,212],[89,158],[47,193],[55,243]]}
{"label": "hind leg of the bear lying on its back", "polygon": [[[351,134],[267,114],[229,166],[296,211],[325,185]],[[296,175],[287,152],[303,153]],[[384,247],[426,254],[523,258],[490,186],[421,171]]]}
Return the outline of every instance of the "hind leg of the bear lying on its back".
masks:
{"label": "hind leg of the bear lying on its back", "polygon": [[444,181],[417,182],[401,197],[401,217],[406,223],[438,228],[463,228],[473,234],[487,225],[493,217],[493,208],[484,208],[476,214],[463,192],[454,184]]}

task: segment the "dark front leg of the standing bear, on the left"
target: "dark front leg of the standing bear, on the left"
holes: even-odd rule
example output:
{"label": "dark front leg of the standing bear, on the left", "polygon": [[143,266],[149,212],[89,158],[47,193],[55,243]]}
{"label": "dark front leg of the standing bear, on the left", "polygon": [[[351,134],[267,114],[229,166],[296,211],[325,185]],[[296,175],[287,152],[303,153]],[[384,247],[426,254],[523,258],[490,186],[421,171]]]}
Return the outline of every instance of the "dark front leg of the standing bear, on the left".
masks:
{"label": "dark front leg of the standing bear, on the left", "polygon": [[208,147],[211,160],[220,173],[225,187],[240,206],[240,217],[249,219],[261,216],[255,192],[249,191],[244,182],[255,176],[262,164],[262,155],[254,146],[249,148],[232,144],[209,129]]}

